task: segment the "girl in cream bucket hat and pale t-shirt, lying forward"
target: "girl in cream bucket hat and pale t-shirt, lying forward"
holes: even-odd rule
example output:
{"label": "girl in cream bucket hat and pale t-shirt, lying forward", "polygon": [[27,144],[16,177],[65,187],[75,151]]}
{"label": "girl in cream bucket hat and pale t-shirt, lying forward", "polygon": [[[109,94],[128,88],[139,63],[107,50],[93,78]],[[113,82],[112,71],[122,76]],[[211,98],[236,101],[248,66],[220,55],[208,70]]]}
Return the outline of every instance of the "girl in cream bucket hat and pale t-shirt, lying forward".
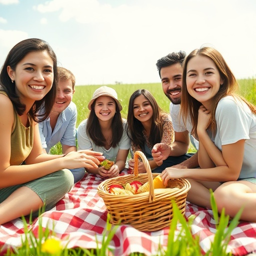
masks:
{"label": "girl in cream bucket hat and pale t-shirt, lying forward", "polygon": [[116,91],[107,86],[97,88],[88,104],[89,117],[77,129],[78,149],[91,149],[102,152],[105,158],[114,161],[109,170],[103,166],[86,168],[89,173],[103,178],[115,177],[125,167],[130,148],[126,134],[126,120],[121,118],[122,106]]}

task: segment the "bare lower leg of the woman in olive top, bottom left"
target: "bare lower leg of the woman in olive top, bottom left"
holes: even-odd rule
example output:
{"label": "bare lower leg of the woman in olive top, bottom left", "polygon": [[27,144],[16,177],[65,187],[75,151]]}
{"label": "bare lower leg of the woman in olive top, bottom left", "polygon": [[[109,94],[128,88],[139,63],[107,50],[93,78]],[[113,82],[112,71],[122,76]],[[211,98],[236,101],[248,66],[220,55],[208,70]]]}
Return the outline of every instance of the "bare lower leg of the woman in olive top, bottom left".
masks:
{"label": "bare lower leg of the woman in olive top, bottom left", "polygon": [[43,206],[41,198],[26,186],[16,189],[0,203],[0,224],[30,214]]}

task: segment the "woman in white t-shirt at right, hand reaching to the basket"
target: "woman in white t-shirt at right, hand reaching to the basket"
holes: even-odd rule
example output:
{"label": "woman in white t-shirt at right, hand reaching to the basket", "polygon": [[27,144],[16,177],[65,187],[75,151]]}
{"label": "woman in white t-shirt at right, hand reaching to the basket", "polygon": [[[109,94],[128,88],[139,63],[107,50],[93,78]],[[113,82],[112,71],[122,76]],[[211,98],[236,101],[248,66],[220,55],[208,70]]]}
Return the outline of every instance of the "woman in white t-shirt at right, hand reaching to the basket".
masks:
{"label": "woman in white t-shirt at right, hand reaching to the basket", "polygon": [[183,64],[181,114],[190,116],[199,138],[200,169],[166,168],[170,178],[188,178],[187,200],[210,208],[209,188],[218,211],[256,221],[256,108],[235,93],[238,84],[221,54],[211,47],[193,50]]}

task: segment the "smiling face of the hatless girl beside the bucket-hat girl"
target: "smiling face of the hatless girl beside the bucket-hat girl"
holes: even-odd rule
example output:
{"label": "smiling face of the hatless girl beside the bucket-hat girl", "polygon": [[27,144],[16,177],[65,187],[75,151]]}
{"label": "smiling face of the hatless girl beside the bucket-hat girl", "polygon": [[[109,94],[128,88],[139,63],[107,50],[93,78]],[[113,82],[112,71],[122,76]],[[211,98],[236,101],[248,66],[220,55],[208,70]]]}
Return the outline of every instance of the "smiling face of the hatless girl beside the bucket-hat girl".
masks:
{"label": "smiling face of the hatless girl beside the bucket-hat girl", "polygon": [[153,109],[149,100],[142,94],[133,101],[133,115],[136,119],[143,122],[152,120]]}

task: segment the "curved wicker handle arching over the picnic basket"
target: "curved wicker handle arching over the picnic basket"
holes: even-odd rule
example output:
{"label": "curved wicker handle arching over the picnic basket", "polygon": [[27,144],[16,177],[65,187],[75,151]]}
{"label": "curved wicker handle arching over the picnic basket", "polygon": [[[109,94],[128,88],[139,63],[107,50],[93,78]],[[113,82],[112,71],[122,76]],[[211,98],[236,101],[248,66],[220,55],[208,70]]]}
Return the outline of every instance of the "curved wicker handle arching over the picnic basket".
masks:
{"label": "curved wicker handle arching over the picnic basket", "polygon": [[150,165],[148,163],[148,160],[146,159],[145,155],[141,151],[135,151],[134,152],[134,176],[138,175],[138,156],[142,159],[142,162],[144,163],[144,166],[146,168],[146,173],[147,173],[147,179],[149,183],[149,202],[154,201],[154,186],[153,186],[153,175],[151,172]]}

